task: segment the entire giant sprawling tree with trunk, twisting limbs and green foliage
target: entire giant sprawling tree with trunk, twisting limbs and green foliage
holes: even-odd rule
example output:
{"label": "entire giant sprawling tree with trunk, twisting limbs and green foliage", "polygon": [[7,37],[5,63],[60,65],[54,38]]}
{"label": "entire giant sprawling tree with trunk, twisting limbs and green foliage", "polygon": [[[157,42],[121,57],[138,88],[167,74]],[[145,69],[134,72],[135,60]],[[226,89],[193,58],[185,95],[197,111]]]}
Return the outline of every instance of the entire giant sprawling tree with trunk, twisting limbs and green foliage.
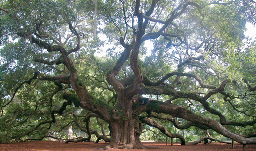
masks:
{"label": "entire giant sprawling tree with trunk, twisting limbs and green foliage", "polygon": [[[0,1],[1,143],[94,134],[105,149],[145,149],[151,126],[185,145],[174,126],[256,144],[256,43],[244,35],[255,12],[233,0]],[[68,126],[88,137],[53,135]]]}

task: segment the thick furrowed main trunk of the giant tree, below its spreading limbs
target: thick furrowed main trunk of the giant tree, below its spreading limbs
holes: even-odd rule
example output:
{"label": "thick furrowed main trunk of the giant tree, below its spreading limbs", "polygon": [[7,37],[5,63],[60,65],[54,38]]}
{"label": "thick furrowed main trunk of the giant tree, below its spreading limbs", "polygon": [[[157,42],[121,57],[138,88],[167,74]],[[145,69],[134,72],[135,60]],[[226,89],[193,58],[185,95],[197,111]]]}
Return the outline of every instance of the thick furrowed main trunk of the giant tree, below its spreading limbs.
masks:
{"label": "thick furrowed main trunk of the giant tree, below its spreading limbs", "polygon": [[105,149],[124,148],[124,149],[146,149],[140,142],[140,134],[143,126],[134,115],[133,101],[124,95],[120,98],[122,102],[117,108],[112,110],[110,120],[111,141]]}

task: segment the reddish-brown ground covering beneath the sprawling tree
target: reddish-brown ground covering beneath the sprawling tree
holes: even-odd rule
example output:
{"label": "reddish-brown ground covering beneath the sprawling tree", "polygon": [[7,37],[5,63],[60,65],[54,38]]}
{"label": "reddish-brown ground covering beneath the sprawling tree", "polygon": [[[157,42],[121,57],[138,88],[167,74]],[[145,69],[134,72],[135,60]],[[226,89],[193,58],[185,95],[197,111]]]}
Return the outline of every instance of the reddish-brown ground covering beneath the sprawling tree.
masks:
{"label": "reddish-brown ground covering beneath the sprawling tree", "polygon": [[[236,143],[235,148],[232,149],[231,144],[224,143],[210,143],[197,145],[181,145],[170,143],[166,145],[165,142],[143,142],[146,146],[154,146],[159,149],[148,149],[147,151],[242,151],[241,144]],[[33,142],[16,142],[13,144],[0,144],[1,151],[94,151],[97,147],[106,146],[107,143],[60,143],[58,141],[33,141]],[[122,149],[116,149],[121,151]],[[146,151],[131,149],[130,151]],[[256,151],[256,144],[246,145],[246,151]]]}

